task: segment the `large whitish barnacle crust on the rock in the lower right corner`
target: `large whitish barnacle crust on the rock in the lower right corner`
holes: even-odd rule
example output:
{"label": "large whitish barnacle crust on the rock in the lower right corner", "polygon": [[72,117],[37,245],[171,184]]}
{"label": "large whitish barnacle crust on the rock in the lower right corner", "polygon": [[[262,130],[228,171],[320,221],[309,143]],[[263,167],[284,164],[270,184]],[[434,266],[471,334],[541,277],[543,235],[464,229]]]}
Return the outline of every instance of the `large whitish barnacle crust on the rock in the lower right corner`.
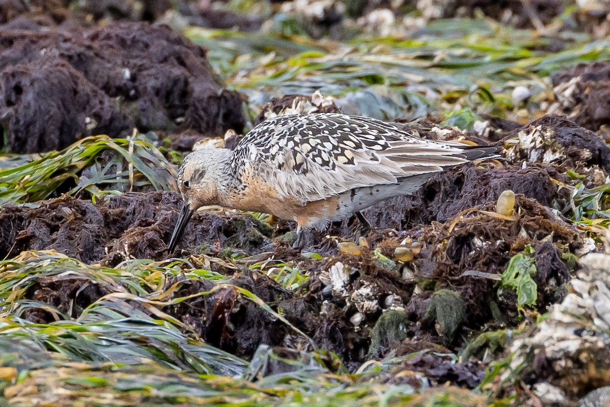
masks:
{"label": "large whitish barnacle crust on the rock in the lower right corner", "polygon": [[[544,355],[547,366],[554,370],[550,377],[597,371],[596,364],[605,364],[610,346],[610,255],[589,253],[580,260],[585,271],[569,283],[569,294],[564,301],[551,306],[548,317],[535,331],[512,343],[510,369],[503,380],[533,365],[536,355]],[[594,373],[592,373],[594,374]],[[555,383],[541,381],[534,393],[544,405],[553,400],[547,397],[564,395],[565,389]],[[553,405],[565,405],[565,398]],[[548,404],[548,405],[551,405]]]}

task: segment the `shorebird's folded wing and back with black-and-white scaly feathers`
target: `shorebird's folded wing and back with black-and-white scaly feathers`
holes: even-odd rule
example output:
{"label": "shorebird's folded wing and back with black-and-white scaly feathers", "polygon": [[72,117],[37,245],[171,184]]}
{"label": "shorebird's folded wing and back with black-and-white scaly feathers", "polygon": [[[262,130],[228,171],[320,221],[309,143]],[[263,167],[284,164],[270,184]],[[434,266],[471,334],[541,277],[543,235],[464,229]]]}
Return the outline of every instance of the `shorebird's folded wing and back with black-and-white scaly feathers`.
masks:
{"label": "shorebird's folded wing and back with black-and-white scaly feathers", "polygon": [[247,160],[280,196],[306,203],[440,172],[469,161],[470,155],[492,154],[424,140],[376,119],[317,113],[280,116],[254,127],[235,148],[234,165]]}

